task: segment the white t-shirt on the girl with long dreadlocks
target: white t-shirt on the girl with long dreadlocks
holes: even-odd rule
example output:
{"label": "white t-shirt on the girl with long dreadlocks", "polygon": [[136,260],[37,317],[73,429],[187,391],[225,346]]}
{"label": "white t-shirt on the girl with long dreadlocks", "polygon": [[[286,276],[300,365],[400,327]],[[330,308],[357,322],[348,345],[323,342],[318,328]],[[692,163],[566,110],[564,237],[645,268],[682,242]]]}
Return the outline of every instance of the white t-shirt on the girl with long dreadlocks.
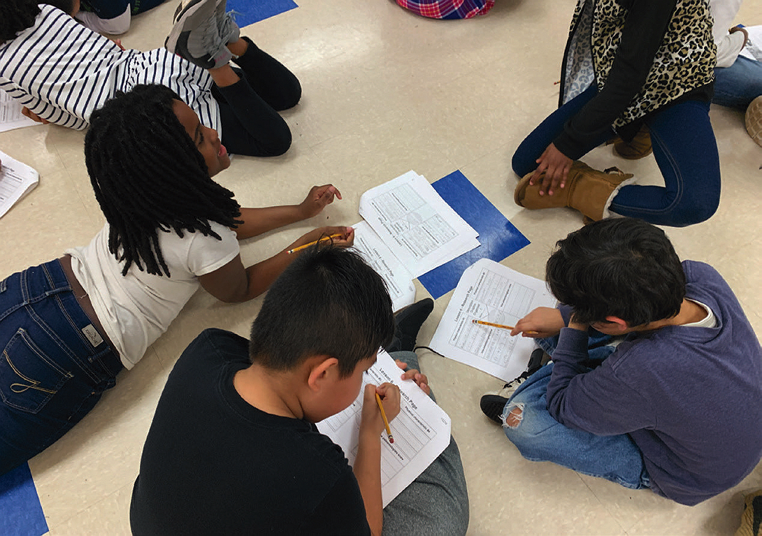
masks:
{"label": "white t-shirt on the girl with long dreadlocks", "polygon": [[108,224],[87,246],[66,250],[74,275],[126,369],[133,368],[178,316],[200,286],[198,276],[225,266],[239,254],[235,231],[215,222],[210,226],[222,240],[200,232],[184,231],[183,238],[174,231],[158,232],[170,277],[141,271],[135,263],[123,276],[124,263],[108,250]]}

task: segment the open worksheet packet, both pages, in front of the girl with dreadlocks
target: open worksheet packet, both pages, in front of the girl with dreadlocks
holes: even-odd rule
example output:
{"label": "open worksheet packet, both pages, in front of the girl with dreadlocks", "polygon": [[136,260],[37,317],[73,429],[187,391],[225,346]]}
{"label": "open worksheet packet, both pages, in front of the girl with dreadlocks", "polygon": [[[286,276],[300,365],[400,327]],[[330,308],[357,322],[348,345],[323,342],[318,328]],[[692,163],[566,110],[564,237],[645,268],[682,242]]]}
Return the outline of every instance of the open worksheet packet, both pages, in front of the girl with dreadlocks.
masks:
{"label": "open worksheet packet, both pages, in front of the girl with dreadlocks", "polygon": [[363,193],[360,215],[354,247],[385,279],[395,311],[415,299],[412,279],[479,246],[479,233],[415,171]]}

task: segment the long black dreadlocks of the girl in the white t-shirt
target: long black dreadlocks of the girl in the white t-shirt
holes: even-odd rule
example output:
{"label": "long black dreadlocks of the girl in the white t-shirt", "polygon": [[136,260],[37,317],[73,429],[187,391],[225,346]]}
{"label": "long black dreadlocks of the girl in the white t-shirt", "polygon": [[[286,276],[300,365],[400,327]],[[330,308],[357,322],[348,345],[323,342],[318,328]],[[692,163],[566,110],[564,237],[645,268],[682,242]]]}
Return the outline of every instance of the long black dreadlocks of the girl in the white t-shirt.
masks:
{"label": "long black dreadlocks of the girl in the white t-shirt", "polygon": [[[108,250],[143,270],[170,276],[158,247],[158,231],[200,232],[221,239],[209,222],[242,222],[233,193],[214,182],[162,85],[136,85],[117,92],[90,116],[85,164],[95,198],[109,224]],[[141,263],[142,262],[142,263]]]}

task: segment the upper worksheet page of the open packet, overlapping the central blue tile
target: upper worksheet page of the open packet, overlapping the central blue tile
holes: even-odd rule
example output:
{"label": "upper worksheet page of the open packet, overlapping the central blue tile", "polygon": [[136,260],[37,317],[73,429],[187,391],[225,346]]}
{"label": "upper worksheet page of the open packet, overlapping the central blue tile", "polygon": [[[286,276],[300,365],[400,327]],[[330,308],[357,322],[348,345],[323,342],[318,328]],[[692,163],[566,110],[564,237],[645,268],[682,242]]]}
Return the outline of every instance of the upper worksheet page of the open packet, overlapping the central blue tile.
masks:
{"label": "upper worksheet page of the open packet, overlapping the central blue tile", "polygon": [[360,215],[413,277],[479,246],[479,234],[415,171],[363,193]]}

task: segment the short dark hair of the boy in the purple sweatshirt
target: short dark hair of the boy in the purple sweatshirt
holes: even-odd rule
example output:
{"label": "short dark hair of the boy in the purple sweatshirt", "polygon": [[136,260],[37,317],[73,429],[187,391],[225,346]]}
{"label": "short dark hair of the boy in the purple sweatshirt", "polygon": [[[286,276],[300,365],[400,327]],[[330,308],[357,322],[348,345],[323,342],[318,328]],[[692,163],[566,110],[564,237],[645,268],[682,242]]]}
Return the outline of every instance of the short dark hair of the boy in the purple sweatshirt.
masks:
{"label": "short dark hair of the boy in the purple sweatshirt", "polygon": [[583,324],[611,315],[631,327],[674,317],[685,297],[685,273],[660,228],[639,219],[605,219],[558,241],[546,281]]}

